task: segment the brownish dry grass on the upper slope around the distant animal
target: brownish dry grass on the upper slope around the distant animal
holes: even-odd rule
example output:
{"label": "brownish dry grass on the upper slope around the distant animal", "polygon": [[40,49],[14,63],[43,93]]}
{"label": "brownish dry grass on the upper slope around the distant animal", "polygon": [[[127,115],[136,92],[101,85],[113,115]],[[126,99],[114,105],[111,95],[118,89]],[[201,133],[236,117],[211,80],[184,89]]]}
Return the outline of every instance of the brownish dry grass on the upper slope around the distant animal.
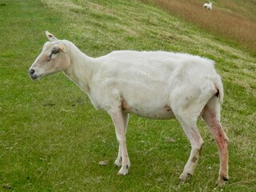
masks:
{"label": "brownish dry grass on the upper slope around the distant animal", "polygon": [[204,0],[143,0],[168,10],[170,14],[192,22],[215,36],[224,37],[256,54],[256,2],[211,1],[213,10],[203,9]]}

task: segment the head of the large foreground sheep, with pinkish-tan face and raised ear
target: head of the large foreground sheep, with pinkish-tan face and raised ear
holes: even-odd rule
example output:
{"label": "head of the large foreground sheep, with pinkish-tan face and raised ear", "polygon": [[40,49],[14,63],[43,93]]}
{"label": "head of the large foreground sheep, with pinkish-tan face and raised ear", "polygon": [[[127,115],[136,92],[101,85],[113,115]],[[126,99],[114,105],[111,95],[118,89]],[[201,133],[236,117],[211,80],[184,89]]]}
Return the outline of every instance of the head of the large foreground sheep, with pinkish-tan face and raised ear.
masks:
{"label": "head of the large foreground sheep, with pinkish-tan face and raised ear", "polygon": [[58,40],[48,31],[46,37],[50,42],[45,43],[42,53],[38,55],[29,70],[30,78],[33,80],[65,70],[70,65],[66,42]]}

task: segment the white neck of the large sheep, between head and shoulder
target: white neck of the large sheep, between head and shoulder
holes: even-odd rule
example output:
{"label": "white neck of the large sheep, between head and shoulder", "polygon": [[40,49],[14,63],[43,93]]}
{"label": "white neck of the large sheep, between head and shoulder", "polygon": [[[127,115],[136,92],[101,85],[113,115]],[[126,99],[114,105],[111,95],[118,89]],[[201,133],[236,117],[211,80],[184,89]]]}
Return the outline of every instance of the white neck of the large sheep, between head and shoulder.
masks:
{"label": "white neck of the large sheep, between head and shoulder", "polygon": [[70,66],[64,70],[64,74],[75,82],[86,94],[90,94],[90,79],[94,71],[94,58],[83,54],[74,44],[70,49]]}

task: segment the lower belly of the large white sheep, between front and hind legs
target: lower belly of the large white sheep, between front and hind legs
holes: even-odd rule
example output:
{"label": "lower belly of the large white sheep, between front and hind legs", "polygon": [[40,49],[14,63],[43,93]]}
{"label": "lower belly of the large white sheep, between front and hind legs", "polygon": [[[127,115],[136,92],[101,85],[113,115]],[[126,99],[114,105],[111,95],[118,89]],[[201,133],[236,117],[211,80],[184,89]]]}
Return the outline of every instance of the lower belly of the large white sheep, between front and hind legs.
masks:
{"label": "lower belly of the large white sheep, between front and hind legs", "polygon": [[173,111],[170,106],[129,106],[126,102],[122,103],[122,110],[126,113],[137,114],[144,118],[154,119],[170,119],[175,118]]}

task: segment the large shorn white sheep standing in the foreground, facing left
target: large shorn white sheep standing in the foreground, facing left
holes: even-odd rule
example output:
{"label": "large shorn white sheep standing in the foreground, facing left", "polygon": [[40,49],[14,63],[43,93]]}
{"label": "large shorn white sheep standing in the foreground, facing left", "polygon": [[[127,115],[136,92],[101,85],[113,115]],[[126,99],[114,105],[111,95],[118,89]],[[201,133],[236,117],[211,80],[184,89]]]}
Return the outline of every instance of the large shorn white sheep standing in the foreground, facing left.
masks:
{"label": "large shorn white sheep standing in the foreground, facing left", "polygon": [[114,164],[118,174],[128,174],[130,159],[126,147],[129,114],[145,118],[177,118],[191,144],[191,152],[180,175],[186,182],[198,164],[203,140],[197,120],[201,116],[219,151],[217,184],[228,180],[228,138],[220,124],[223,86],[214,62],[190,54],[164,51],[118,50],[100,58],[83,54],[74,43],[58,40],[46,31],[50,42],[29,69],[38,80],[63,71],[90,98],[96,109],[105,110],[114,123],[119,143]]}

